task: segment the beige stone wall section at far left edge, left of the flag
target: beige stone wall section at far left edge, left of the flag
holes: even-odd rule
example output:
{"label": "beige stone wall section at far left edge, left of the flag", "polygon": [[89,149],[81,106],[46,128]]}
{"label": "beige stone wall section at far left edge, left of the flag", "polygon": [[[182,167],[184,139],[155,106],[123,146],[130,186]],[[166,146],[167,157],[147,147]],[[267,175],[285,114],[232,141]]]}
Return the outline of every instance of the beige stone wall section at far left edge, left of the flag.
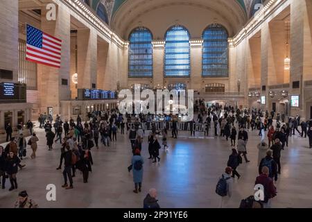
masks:
{"label": "beige stone wall section at far left edge, left of the flag", "polygon": [[18,1],[1,1],[0,18],[0,69],[13,71],[13,81],[16,82],[19,71]]}

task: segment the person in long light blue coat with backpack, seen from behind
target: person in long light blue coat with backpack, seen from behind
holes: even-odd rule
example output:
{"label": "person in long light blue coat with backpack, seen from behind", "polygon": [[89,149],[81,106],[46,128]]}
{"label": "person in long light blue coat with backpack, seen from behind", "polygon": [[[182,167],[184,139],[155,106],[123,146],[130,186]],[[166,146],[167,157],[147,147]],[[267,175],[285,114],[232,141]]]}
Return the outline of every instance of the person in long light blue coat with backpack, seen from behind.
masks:
{"label": "person in long light blue coat with backpack, seen from behind", "polygon": [[135,150],[135,155],[132,157],[131,164],[133,170],[133,182],[135,182],[135,190],[133,192],[138,194],[138,191],[141,192],[144,164],[144,160],[141,157],[139,149]]}

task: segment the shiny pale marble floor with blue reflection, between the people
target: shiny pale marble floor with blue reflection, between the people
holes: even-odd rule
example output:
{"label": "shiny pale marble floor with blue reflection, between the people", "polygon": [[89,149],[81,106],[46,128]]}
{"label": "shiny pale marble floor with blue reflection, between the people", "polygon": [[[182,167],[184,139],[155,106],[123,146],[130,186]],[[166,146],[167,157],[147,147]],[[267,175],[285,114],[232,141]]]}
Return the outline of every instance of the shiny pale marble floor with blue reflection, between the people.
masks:
{"label": "shiny pale marble floor with blue reflection, between the people", "polygon": [[[218,177],[223,173],[227,158],[231,153],[230,142],[221,137],[189,137],[189,133],[180,132],[179,139],[168,139],[168,153],[160,151],[160,164],[148,160],[146,139],[142,155],[144,156],[143,190],[134,194],[132,173],[128,173],[132,153],[128,135],[117,135],[117,142],[110,148],[100,146],[92,149],[94,158],[93,172],[89,183],[83,183],[83,176],[77,173],[74,189],[64,190],[62,171],[57,171],[60,160],[60,144],[54,144],[53,151],[46,148],[45,134],[35,128],[40,139],[37,158],[31,160],[31,148],[28,157],[22,162],[26,168],[17,173],[19,188],[8,191],[0,189],[0,207],[12,207],[21,190],[27,190],[29,196],[40,207],[142,207],[148,189],[158,190],[161,207],[219,207],[220,197],[215,194]],[[253,194],[254,180],[257,176],[258,132],[250,132],[248,142],[249,164],[238,168],[241,179],[234,181],[233,196],[227,207],[239,207],[241,199]],[[277,197],[272,207],[312,207],[312,150],[308,139],[291,137],[289,148],[282,152],[282,172],[276,183]],[[56,185],[56,201],[46,200],[46,185]]]}

